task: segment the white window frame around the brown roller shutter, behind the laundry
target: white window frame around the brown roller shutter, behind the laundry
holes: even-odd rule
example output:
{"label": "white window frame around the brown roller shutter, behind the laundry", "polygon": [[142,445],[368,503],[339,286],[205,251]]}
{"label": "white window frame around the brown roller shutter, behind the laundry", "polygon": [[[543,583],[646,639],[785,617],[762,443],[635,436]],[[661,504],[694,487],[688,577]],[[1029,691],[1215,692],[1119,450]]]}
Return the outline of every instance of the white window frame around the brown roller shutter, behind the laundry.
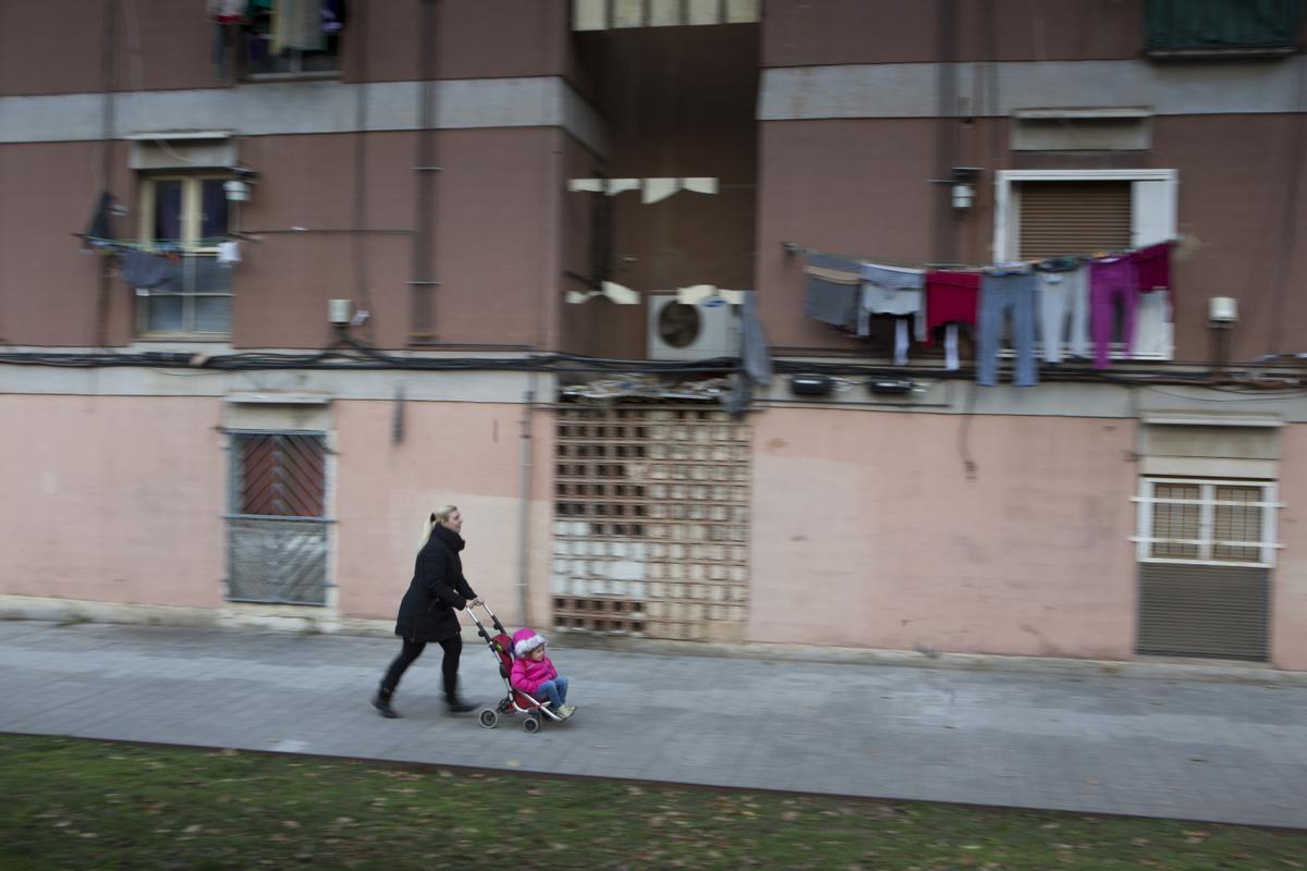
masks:
{"label": "white window frame around the brown roller shutter, behind the laundry", "polygon": [[[993,178],[993,259],[1010,262],[1018,259],[1021,240],[1022,182],[1129,182],[1131,183],[1131,247],[1144,248],[1179,235],[1178,170],[999,170]],[[1175,359],[1174,325],[1166,324],[1166,350],[1125,354],[1114,346],[1111,358],[1117,360]]]}

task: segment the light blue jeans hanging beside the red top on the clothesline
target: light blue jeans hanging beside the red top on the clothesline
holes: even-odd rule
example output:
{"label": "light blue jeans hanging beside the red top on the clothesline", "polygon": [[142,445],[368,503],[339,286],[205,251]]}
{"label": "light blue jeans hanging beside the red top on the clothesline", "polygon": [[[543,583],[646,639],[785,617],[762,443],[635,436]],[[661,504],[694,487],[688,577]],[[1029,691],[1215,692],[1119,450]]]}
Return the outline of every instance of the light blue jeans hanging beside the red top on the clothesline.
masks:
{"label": "light blue jeans hanging beside the red top on the clothesline", "polygon": [[1005,316],[1012,315],[1012,342],[1017,350],[1017,387],[1039,384],[1035,363],[1035,273],[1029,266],[995,266],[980,279],[976,384],[999,383],[999,338]]}

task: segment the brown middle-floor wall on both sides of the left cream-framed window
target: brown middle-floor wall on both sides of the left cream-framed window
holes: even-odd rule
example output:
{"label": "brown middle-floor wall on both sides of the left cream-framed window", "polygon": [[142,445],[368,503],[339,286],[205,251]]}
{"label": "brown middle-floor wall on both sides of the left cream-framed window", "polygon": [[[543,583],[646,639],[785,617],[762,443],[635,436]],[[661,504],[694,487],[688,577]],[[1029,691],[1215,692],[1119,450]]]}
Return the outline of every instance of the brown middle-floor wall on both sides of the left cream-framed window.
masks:
{"label": "brown middle-floor wall on both sides of the left cream-framed window", "polygon": [[[548,128],[444,131],[437,153],[431,232],[435,245],[437,341],[488,345],[545,343],[557,317],[558,206],[563,185],[555,154],[566,136]],[[365,337],[403,347],[410,326],[416,225],[416,135],[365,137],[367,197],[363,226],[397,234],[320,232],[354,226],[354,148],[358,137],[269,136],[240,142],[240,157],[261,176],[240,225],[235,268],[234,336],[242,347],[322,347],[331,341],[325,307],[353,298],[372,313]],[[99,144],[0,148],[0,338],[20,345],[97,343],[101,260],[80,252],[98,191]],[[125,151],[115,146],[115,167]],[[136,235],[136,180],[115,170],[111,189],[131,214],[115,221]],[[39,205],[33,205],[39,204]],[[310,232],[284,232],[291,227]],[[356,244],[357,243],[357,244]],[[362,269],[362,272],[361,272]],[[132,338],[135,298],[111,279],[107,340]]]}

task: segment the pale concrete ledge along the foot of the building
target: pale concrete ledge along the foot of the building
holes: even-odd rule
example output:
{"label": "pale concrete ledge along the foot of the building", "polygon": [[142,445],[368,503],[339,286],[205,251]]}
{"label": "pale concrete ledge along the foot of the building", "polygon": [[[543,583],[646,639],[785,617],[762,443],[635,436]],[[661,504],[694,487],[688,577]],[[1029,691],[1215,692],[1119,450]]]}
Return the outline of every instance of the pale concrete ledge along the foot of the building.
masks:
{"label": "pale concrete ledge along the foot of the building", "polygon": [[[363,637],[395,637],[392,619],[349,618],[328,609],[276,605],[227,603],[222,609],[175,607],[167,605],[124,605],[30,595],[0,595],[0,620],[48,623],[122,623],[129,626],[173,626],[207,629],[271,631]],[[508,627],[512,631],[512,627]],[[670,641],[623,635],[593,635],[554,629],[548,632],[558,648],[613,650],[650,656],[715,657],[771,662],[821,662],[857,666],[946,669],[951,671],[1000,671],[1047,674],[1067,678],[1114,676],[1140,680],[1212,680],[1257,683],[1264,686],[1307,687],[1307,671],[1286,671],[1259,662],[1226,659],[1065,659],[1053,657],[1014,657],[984,653],[935,653],[916,650],[873,650],[801,644],[711,644]],[[480,645],[476,628],[464,623],[463,640]]]}

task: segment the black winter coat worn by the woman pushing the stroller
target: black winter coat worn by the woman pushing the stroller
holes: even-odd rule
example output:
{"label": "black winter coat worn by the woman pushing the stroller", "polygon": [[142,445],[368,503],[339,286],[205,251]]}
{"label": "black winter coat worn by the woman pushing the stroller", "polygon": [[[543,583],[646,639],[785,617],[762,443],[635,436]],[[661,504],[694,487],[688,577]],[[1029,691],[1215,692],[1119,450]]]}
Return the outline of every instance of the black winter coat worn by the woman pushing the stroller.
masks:
{"label": "black winter coat worn by the woman pushing the stroller", "polygon": [[440,525],[431,530],[431,538],[418,551],[413,581],[400,602],[395,635],[406,641],[444,641],[459,635],[461,627],[454,609],[461,611],[477,597],[463,577],[459,558],[463,547],[463,537],[457,533]]}

